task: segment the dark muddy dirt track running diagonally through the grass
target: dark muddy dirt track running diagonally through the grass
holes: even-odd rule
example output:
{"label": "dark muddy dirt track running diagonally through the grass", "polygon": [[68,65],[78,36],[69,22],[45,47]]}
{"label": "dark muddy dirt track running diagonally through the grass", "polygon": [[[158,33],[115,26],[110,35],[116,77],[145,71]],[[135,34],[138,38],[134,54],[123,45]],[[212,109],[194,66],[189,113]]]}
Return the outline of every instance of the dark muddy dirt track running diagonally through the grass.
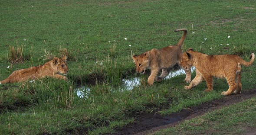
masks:
{"label": "dark muddy dirt track running diagonally through the grass", "polygon": [[[213,100],[199,106],[193,106],[169,116],[161,116],[158,113],[142,114],[136,118],[135,123],[126,125],[122,129],[117,129],[115,133],[105,135],[148,135],[151,132],[172,127],[184,120],[200,116],[211,110],[221,108],[222,106],[242,102],[254,96],[256,96],[256,89],[244,90],[242,94],[225,96],[220,100]],[[252,132],[254,131],[255,129],[252,129]],[[246,135],[251,135],[250,130],[248,130],[248,134]]]}

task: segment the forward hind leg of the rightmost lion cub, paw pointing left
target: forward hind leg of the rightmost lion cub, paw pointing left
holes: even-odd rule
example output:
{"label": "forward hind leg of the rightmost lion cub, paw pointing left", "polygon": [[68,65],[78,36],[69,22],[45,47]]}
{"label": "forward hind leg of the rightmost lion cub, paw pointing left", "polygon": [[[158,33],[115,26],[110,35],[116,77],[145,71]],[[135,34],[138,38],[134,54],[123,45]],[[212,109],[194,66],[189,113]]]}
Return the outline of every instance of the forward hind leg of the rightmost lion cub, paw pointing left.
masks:
{"label": "forward hind leg of the rightmost lion cub, paw pointing left", "polygon": [[237,88],[237,84],[236,84],[236,73],[229,73],[225,75],[225,78],[227,80],[227,83],[229,85],[229,89],[227,91],[223,91],[221,93],[221,95],[230,95],[232,94],[236,88]]}

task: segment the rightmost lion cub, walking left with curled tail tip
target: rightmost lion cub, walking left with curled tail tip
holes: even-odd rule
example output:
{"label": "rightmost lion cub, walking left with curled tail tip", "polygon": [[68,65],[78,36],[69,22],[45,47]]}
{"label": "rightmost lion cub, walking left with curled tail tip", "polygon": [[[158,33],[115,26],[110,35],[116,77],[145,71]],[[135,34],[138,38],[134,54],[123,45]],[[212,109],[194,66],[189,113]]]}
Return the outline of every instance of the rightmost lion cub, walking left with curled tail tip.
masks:
{"label": "rightmost lion cub, walking left with curled tail tip", "polygon": [[206,81],[208,89],[213,90],[213,76],[225,77],[229,84],[229,89],[223,91],[222,95],[230,95],[232,93],[241,93],[241,70],[242,65],[250,66],[254,61],[254,53],[250,55],[250,61],[246,62],[236,55],[205,55],[200,52],[193,51],[189,48],[184,52],[181,58],[181,66],[183,68],[196,67],[196,77],[191,81],[189,86],[184,89],[189,90],[196,87],[203,79]]}

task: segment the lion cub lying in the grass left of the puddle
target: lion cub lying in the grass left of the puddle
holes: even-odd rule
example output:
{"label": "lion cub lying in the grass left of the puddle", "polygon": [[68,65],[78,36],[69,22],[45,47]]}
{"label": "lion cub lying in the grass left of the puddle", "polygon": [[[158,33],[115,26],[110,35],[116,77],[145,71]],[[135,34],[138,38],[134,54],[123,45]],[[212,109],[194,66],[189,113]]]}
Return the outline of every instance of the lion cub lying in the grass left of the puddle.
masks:
{"label": "lion cub lying in the grass left of the puddle", "polygon": [[[43,77],[53,77],[67,80],[68,67],[66,65],[67,57],[53,58],[53,60],[46,62],[41,66],[30,67],[14,71],[7,79],[1,80],[0,84],[16,83],[25,80],[35,80]],[[63,74],[63,75],[61,75]]]}

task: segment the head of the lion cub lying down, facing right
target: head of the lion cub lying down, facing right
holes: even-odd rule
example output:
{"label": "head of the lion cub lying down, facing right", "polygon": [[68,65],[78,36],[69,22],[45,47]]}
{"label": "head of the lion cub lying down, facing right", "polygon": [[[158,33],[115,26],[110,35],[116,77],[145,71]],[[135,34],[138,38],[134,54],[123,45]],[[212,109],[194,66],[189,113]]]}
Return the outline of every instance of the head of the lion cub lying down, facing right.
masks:
{"label": "head of the lion cub lying down, facing right", "polygon": [[62,58],[55,57],[52,60],[52,66],[55,69],[57,74],[67,75],[69,72],[69,68],[66,64],[67,56],[63,56]]}

